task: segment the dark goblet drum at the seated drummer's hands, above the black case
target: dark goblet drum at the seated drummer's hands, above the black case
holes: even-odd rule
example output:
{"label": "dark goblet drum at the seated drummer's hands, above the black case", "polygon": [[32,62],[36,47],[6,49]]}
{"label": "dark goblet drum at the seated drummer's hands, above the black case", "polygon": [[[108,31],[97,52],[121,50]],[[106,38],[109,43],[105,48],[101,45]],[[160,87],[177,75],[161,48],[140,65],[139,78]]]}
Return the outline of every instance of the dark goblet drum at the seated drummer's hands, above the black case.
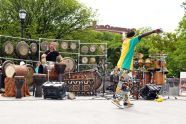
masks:
{"label": "dark goblet drum at the seated drummer's hands, above the black case", "polygon": [[58,73],[58,81],[63,81],[63,74],[66,68],[66,64],[64,63],[56,63],[55,70]]}

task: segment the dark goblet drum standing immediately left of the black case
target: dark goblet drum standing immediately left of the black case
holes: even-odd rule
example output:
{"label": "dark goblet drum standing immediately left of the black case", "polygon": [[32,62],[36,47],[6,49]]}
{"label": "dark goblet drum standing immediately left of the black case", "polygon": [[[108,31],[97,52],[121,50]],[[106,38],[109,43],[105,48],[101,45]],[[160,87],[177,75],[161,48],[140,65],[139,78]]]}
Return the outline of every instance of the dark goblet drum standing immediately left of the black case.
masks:
{"label": "dark goblet drum standing immediately left of the black case", "polygon": [[42,85],[46,81],[46,74],[34,74],[33,75],[34,86],[36,88],[35,97],[42,97]]}

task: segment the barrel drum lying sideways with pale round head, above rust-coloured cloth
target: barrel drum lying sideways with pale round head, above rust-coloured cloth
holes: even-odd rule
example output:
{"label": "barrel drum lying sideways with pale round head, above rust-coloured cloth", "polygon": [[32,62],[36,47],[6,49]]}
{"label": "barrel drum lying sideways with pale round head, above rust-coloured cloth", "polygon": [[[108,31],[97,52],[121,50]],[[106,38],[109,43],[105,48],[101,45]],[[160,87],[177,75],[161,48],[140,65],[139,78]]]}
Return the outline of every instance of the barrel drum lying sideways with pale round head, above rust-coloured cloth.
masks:
{"label": "barrel drum lying sideways with pale round head, above rust-coloured cloth", "polygon": [[5,68],[5,75],[7,77],[12,78],[13,76],[27,76],[28,75],[28,68],[26,65],[14,65],[9,64]]}

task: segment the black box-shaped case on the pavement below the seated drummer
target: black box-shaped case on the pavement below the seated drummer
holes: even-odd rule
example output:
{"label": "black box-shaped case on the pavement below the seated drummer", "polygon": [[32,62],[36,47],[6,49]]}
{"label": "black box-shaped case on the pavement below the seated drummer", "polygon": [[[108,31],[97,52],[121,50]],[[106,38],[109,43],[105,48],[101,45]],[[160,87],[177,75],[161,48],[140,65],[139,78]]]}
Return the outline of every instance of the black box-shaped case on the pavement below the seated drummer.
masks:
{"label": "black box-shaped case on the pavement below the seated drummer", "polygon": [[63,99],[66,96],[66,84],[64,82],[45,82],[43,84],[44,99]]}

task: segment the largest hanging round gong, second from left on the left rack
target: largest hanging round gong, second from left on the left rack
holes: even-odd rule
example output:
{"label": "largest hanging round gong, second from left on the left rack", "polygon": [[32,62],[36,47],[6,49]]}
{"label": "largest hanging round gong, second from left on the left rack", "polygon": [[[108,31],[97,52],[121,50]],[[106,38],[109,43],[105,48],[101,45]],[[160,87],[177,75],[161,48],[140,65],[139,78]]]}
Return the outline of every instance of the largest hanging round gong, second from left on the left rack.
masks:
{"label": "largest hanging round gong, second from left on the left rack", "polygon": [[25,41],[20,41],[16,46],[16,53],[20,58],[26,58],[29,53],[29,46]]}

